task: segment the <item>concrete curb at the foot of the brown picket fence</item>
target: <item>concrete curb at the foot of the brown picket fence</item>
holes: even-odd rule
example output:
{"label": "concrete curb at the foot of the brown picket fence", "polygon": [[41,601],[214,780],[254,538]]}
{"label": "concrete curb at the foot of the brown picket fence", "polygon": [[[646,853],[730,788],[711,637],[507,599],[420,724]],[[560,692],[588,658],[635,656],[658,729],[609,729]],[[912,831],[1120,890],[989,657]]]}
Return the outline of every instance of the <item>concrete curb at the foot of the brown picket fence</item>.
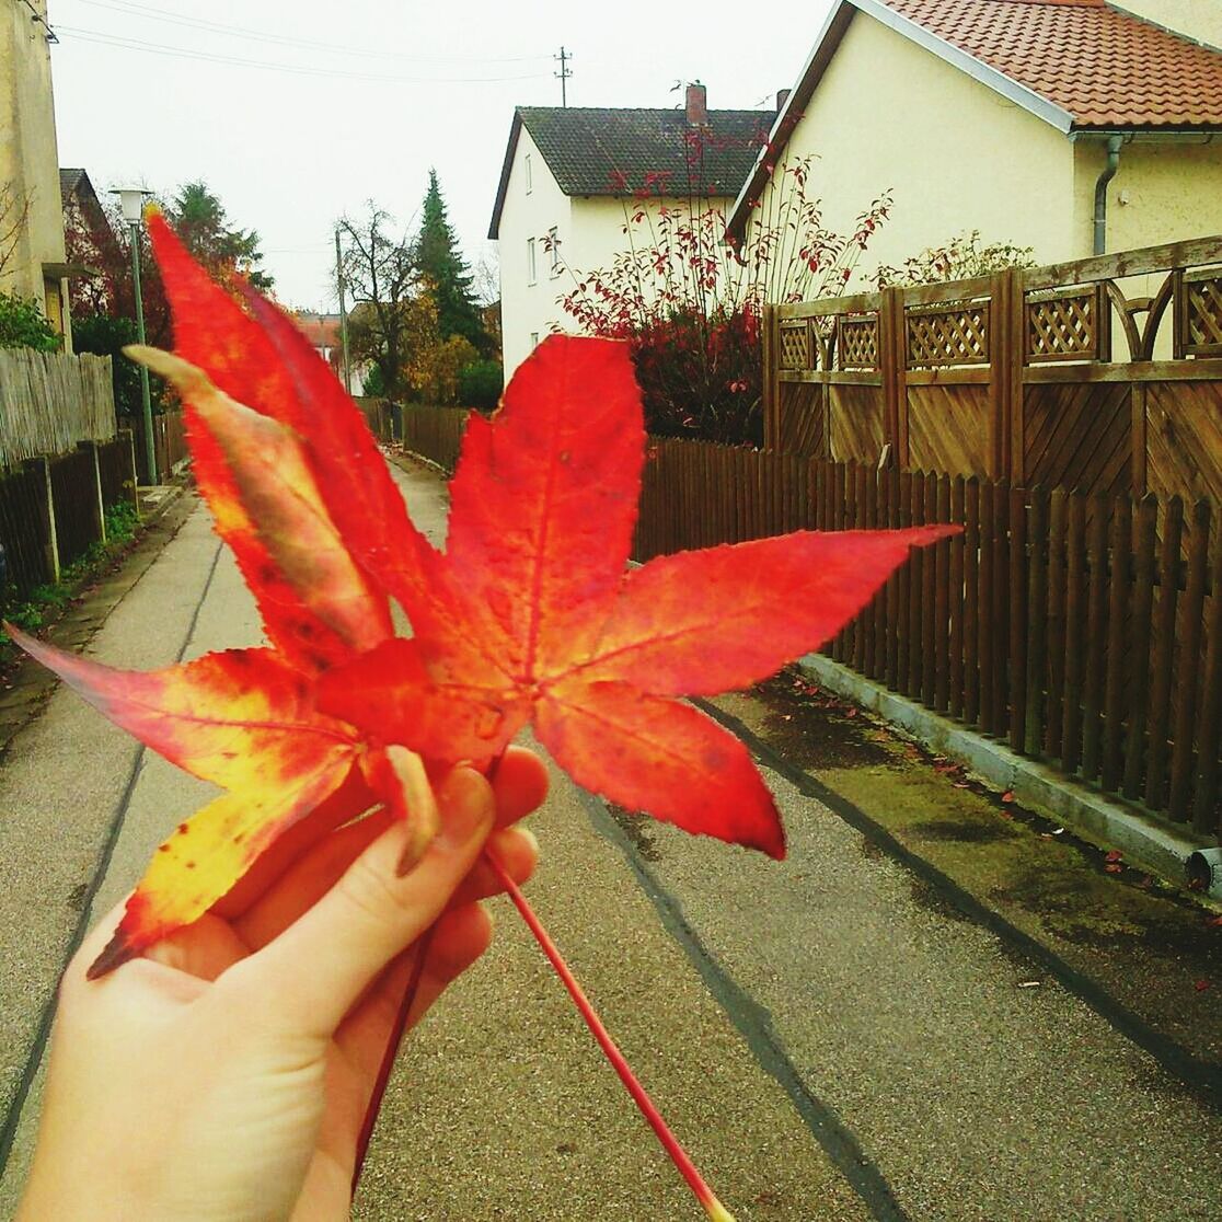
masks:
{"label": "concrete curb at the foot of the brown picket fence", "polygon": [[[820,687],[876,714],[923,747],[964,764],[986,785],[1002,792],[1012,791],[1024,807],[1055,819],[1102,848],[1119,849],[1129,864],[1141,865],[1176,886],[1184,886],[1189,854],[1213,843],[1187,829],[1168,827],[1133,807],[1108,800],[1046,765],[1018,755],[1003,743],[964,730],[948,717],[896,695],[821,654],[808,654],[798,666]],[[1222,890],[1211,895],[1222,899]]]}

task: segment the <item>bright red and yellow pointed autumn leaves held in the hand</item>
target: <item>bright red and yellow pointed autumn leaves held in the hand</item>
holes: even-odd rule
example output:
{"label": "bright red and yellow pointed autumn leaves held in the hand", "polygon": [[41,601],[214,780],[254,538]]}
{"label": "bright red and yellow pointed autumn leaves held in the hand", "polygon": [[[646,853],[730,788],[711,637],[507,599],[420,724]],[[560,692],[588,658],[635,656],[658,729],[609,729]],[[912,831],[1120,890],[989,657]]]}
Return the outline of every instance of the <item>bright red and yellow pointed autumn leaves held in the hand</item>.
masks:
{"label": "bright red and yellow pointed autumn leaves held in the hand", "polygon": [[[150,229],[176,354],[137,356],[183,398],[200,491],[269,648],[139,675],[13,633],[229,791],[161,846],[92,975],[240,906],[373,804],[411,820],[423,851],[426,767],[490,763],[528,723],[587,788],[785,855],[747,748],[678,698],[747,687],[818,648],[910,546],[953,528],[798,532],[629,569],[645,434],[628,348],[552,336],[494,420],[472,414],[439,552],[292,323],[251,291],[242,309],[164,221]],[[392,599],[411,639],[392,634]]]}

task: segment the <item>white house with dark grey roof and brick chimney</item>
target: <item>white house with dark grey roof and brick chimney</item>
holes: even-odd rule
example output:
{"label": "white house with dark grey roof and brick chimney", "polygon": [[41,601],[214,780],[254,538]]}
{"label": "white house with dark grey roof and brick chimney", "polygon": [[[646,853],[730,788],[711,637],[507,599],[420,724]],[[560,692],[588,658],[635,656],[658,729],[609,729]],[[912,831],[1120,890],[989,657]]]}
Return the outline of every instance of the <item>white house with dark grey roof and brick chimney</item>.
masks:
{"label": "white house with dark grey roof and brick chimney", "polygon": [[607,268],[626,249],[635,207],[728,213],[774,119],[709,110],[699,82],[682,109],[518,106],[488,233],[500,248],[506,378],[563,324],[569,269]]}

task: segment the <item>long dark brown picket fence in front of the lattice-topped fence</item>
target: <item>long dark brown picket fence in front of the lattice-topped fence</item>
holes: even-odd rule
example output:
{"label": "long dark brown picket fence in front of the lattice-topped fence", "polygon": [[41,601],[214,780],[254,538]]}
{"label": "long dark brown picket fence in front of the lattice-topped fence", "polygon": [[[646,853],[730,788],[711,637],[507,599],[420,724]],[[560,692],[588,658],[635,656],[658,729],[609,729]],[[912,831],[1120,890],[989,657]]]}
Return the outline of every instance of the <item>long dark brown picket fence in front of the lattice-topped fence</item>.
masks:
{"label": "long dark brown picket fence in front of the lattice-topped fence", "polygon": [[1222,831],[1222,521],[1206,500],[654,439],[634,554],[930,522],[964,533],[915,551],[826,653],[1068,776]]}

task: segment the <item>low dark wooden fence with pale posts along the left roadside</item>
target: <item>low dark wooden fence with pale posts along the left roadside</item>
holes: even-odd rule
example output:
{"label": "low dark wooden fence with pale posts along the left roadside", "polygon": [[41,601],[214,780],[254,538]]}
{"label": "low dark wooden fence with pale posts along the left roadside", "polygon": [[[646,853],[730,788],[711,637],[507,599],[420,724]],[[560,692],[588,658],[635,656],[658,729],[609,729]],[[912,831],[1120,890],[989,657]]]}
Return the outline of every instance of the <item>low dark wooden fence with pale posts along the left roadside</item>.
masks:
{"label": "low dark wooden fence with pale posts along the left roadside", "polygon": [[136,505],[131,433],[112,441],[82,442],[67,455],[27,459],[0,474],[0,544],[9,590],[27,594],[55,582],[61,568],[105,538],[105,514]]}

